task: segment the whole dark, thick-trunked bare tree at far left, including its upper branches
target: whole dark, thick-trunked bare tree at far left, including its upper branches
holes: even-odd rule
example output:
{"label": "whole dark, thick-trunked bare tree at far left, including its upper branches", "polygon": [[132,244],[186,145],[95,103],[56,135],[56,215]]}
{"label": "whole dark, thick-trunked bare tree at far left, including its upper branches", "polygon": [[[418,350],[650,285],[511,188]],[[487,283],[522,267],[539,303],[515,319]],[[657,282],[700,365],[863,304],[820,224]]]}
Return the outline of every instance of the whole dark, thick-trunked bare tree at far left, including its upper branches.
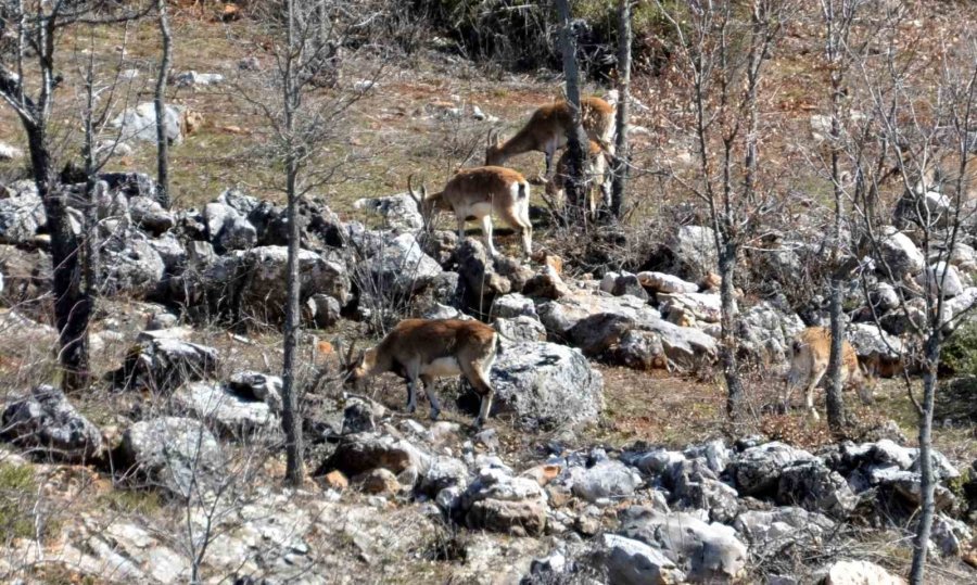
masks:
{"label": "whole dark, thick-trunked bare tree at far left, including its upper branches", "polygon": [[63,79],[56,71],[58,36],[72,25],[117,23],[141,14],[120,10],[107,0],[0,3],[0,38],[4,39],[0,42],[0,99],[17,114],[27,135],[30,170],[45,205],[54,265],[59,364],[62,385],[68,391],[88,383],[85,336],[91,298],[81,289],[78,238],[68,217],[67,193],[55,173],[51,123],[54,90]]}

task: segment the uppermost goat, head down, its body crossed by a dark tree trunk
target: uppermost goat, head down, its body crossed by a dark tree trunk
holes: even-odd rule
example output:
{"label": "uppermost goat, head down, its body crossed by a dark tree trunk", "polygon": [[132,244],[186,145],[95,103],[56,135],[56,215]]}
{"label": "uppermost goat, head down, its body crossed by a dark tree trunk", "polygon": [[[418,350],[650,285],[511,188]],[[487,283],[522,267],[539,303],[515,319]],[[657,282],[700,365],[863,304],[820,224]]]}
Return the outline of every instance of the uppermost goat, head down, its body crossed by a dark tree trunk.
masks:
{"label": "uppermost goat, head down, its body crossed by a dark tree trunk", "polygon": [[[587,138],[597,142],[607,152],[613,153],[614,109],[600,98],[585,98],[581,102],[581,122]],[[538,151],[546,154],[546,177],[553,169],[553,155],[567,145],[567,133],[572,129],[573,118],[570,106],[564,101],[544,105],[535,112],[516,136],[505,142],[498,132],[488,132],[485,149],[486,165],[503,165],[517,154]]]}

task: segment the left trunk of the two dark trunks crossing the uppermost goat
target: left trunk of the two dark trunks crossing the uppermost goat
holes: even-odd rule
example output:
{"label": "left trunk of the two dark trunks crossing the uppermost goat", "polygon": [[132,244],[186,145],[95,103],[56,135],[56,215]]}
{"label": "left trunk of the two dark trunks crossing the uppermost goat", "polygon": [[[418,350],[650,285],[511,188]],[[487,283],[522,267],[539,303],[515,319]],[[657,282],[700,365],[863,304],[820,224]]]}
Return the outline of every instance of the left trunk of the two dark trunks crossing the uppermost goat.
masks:
{"label": "left trunk of the two dark trunks crossing the uppermost goat", "polygon": [[570,24],[570,3],[557,0],[557,14],[560,18],[560,48],[563,53],[563,77],[567,86],[567,103],[570,105],[572,118],[567,132],[567,180],[563,188],[570,203],[570,215],[574,219],[583,217],[586,206],[586,185],[584,180],[587,136],[581,125],[580,116],[580,73],[576,66],[576,40]]}

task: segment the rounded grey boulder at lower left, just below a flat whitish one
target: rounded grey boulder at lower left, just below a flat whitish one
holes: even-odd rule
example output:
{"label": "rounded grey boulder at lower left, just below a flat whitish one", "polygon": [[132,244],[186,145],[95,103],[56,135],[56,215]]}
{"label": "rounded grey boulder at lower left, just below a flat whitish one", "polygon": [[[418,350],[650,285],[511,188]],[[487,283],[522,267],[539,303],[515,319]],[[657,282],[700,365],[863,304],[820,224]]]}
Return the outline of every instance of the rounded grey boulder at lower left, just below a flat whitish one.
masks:
{"label": "rounded grey boulder at lower left, just below a flat whitish one", "polygon": [[166,417],[137,422],[123,434],[120,453],[128,466],[126,478],[138,487],[160,487],[189,498],[224,479],[220,446],[196,420]]}

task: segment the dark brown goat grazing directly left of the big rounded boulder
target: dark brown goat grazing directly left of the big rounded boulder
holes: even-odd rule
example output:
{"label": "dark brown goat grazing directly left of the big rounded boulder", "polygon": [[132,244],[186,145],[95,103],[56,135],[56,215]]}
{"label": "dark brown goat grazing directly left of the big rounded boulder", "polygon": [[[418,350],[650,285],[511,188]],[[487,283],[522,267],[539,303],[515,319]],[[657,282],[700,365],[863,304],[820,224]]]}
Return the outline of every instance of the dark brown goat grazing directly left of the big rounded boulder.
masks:
{"label": "dark brown goat grazing directly left of the big rounded boulder", "polygon": [[434,378],[464,376],[482,398],[474,422],[481,427],[488,418],[495,395],[488,372],[498,353],[498,333],[481,321],[405,319],[379,345],[347,366],[346,381],[356,384],[372,376],[394,372],[407,381],[407,411],[414,412],[420,380],[431,403],[431,419],[436,419],[441,403],[434,393]]}

